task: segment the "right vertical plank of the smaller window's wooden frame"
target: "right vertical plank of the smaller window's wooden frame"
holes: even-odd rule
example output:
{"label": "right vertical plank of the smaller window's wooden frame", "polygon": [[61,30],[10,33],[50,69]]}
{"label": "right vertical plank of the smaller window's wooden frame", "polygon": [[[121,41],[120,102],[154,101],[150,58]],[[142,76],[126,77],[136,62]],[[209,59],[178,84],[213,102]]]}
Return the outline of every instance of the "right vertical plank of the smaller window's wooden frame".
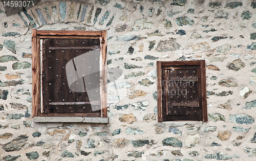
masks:
{"label": "right vertical plank of the smaller window's wooden frame", "polygon": [[202,83],[202,110],[203,110],[203,120],[208,121],[208,114],[207,114],[207,100],[206,100],[206,73],[205,73],[205,60],[201,60],[200,62],[201,67],[201,83]]}

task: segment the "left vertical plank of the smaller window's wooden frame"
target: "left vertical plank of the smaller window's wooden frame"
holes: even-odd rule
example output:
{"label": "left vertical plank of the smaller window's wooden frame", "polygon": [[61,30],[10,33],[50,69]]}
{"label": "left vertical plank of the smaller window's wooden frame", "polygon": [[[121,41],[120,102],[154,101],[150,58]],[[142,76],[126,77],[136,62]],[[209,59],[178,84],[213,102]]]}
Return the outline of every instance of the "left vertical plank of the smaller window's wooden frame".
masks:
{"label": "left vertical plank of the smaller window's wooden frame", "polygon": [[162,117],[162,64],[157,61],[157,116],[158,122],[163,122]]}

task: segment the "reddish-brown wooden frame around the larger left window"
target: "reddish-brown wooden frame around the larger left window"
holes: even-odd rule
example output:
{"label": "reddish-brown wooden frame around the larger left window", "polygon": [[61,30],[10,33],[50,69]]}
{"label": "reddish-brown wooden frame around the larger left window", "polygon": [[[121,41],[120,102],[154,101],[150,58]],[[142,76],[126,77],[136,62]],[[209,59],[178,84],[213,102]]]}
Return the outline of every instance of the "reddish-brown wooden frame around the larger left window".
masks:
{"label": "reddish-brown wooden frame around the larger left window", "polygon": [[[84,39],[98,38],[100,40],[100,114],[94,113],[40,113],[41,79],[40,79],[40,39]],[[106,31],[40,31],[32,29],[32,117],[99,117],[108,118],[106,94]]]}

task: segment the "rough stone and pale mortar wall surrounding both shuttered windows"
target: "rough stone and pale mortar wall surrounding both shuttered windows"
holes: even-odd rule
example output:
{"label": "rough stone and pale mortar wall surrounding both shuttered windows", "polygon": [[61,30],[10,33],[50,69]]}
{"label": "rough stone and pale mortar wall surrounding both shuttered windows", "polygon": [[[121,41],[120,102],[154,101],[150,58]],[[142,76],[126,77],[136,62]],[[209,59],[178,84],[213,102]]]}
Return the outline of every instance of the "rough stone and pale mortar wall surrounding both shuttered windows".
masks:
{"label": "rough stone and pale mortar wall surrounding both shuttered windows", "polygon": [[[255,160],[255,8],[252,1],[41,1],[6,17],[1,2],[1,159]],[[108,67],[123,70],[117,90],[108,85],[109,124],[33,122],[33,28],[107,30]],[[200,59],[209,121],[158,123],[156,61]]]}

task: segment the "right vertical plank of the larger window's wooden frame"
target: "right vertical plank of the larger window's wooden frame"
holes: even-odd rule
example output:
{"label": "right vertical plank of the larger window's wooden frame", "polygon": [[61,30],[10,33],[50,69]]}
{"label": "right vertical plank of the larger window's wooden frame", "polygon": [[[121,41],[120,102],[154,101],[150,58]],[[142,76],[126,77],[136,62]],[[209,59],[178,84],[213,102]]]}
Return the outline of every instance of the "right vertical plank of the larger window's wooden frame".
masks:
{"label": "right vertical plank of the larger window's wooden frame", "polygon": [[100,85],[100,94],[101,94],[101,117],[108,117],[108,109],[107,109],[107,96],[106,96],[106,30],[102,31],[102,36],[100,37],[100,53],[101,53],[101,61],[102,64],[102,79]]}

